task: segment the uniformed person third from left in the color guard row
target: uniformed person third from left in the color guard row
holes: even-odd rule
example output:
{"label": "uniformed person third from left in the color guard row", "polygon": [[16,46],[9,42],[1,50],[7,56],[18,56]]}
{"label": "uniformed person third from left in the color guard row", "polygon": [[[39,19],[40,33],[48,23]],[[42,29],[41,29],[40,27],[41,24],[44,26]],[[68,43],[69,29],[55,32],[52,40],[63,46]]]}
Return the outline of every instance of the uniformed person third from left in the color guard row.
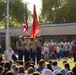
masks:
{"label": "uniformed person third from left in the color guard row", "polygon": [[35,63],[35,56],[36,56],[36,45],[35,45],[35,40],[33,38],[30,38],[30,54],[32,61]]}

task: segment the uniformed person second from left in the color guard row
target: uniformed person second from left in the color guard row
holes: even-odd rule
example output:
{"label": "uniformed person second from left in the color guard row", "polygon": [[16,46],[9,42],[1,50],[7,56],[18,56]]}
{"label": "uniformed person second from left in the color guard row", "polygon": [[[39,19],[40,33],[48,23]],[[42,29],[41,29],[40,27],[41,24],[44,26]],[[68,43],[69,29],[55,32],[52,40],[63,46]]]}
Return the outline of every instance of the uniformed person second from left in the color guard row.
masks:
{"label": "uniformed person second from left in the color guard row", "polygon": [[28,62],[29,60],[29,39],[27,37],[24,37],[24,62]]}

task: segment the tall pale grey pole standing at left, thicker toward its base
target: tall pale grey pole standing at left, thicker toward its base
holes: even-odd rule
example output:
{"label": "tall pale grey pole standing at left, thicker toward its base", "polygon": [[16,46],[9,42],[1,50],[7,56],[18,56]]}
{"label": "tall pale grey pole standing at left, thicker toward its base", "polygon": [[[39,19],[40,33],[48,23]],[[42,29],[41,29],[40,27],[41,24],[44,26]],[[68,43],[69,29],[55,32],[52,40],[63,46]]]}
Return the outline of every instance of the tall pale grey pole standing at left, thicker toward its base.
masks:
{"label": "tall pale grey pole standing at left, thicker toward its base", "polygon": [[9,0],[7,1],[7,31],[6,31],[6,49],[10,46],[10,34],[9,34]]}

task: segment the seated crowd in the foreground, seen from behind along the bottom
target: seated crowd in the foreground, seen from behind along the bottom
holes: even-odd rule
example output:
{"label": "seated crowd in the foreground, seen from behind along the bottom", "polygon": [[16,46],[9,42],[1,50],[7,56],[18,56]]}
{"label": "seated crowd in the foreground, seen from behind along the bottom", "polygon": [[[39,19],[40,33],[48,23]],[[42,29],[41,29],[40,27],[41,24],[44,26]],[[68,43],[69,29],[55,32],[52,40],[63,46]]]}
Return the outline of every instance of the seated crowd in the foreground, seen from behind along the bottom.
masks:
{"label": "seated crowd in the foreground, seen from behind along the bottom", "polygon": [[37,65],[31,59],[26,63],[23,60],[15,62],[2,60],[0,75],[76,75],[76,65],[71,69],[66,60],[62,63],[63,69],[56,60],[49,60],[46,63],[44,59],[40,59]]}

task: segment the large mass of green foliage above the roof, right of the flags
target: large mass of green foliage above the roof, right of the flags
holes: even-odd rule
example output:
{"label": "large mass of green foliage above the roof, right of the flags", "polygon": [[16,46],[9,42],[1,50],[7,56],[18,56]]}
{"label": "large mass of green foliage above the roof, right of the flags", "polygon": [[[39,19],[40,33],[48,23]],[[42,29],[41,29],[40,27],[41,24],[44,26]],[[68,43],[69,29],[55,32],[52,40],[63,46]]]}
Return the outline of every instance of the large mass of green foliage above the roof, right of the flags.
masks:
{"label": "large mass of green foliage above the roof, right of the flags", "polygon": [[47,23],[76,22],[76,0],[42,0],[40,20]]}

